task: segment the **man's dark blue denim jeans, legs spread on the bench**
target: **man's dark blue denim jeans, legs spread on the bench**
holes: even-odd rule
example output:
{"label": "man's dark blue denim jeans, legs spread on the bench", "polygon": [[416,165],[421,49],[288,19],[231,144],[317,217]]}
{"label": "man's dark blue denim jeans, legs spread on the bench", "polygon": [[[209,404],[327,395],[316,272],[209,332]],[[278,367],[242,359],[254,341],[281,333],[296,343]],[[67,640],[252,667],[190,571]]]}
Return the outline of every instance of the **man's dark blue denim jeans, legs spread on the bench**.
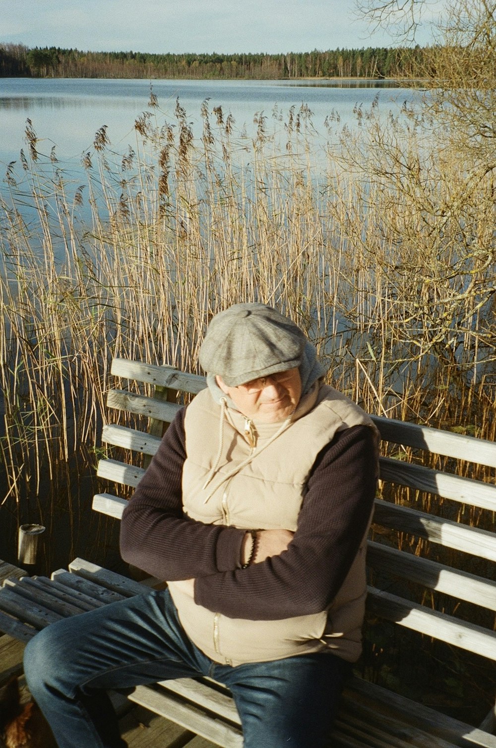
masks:
{"label": "man's dark blue denim jeans, legs spread on the bench", "polygon": [[163,590],[49,625],[28,643],[24,668],[59,748],[126,747],[105,690],[199,675],[230,688],[245,748],[317,748],[350,666],[327,653],[215,663],[186,636]]}

